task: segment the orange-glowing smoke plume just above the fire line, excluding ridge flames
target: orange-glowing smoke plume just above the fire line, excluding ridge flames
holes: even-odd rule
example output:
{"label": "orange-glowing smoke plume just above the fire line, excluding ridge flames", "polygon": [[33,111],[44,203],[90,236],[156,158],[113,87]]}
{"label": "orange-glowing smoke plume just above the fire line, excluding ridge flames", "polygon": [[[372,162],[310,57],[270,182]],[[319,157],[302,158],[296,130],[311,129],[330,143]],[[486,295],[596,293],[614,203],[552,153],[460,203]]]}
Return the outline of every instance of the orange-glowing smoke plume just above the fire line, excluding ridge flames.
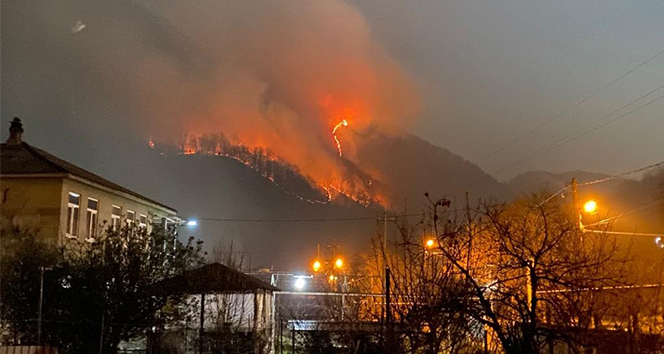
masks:
{"label": "orange-glowing smoke plume just above the fire line, excluding ridge flames", "polygon": [[[351,132],[401,130],[418,108],[408,75],[341,1],[195,4],[151,8],[193,51],[184,55],[187,65],[156,56],[157,66],[142,75],[144,90],[156,95],[145,114],[172,122],[157,139],[223,132],[271,149],[325,184],[342,178],[337,124],[348,122],[337,136],[352,160],[358,135]],[[151,80],[164,75],[168,83]]]}

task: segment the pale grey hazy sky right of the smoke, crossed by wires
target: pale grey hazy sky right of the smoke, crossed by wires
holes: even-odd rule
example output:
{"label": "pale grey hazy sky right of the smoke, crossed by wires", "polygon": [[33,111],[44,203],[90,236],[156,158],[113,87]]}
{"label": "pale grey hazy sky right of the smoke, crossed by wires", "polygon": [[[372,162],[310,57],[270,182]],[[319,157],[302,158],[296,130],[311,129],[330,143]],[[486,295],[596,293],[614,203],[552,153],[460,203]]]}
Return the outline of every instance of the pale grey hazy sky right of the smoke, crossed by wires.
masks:
{"label": "pale grey hazy sky right of the smoke, crossed by wires", "polygon": [[[416,77],[413,131],[478,161],[664,50],[664,2],[354,1]],[[664,85],[664,55],[480,163],[501,170]],[[664,90],[616,112],[628,113]],[[595,125],[592,125],[594,127]],[[619,173],[664,157],[664,99],[495,175],[531,169]]]}

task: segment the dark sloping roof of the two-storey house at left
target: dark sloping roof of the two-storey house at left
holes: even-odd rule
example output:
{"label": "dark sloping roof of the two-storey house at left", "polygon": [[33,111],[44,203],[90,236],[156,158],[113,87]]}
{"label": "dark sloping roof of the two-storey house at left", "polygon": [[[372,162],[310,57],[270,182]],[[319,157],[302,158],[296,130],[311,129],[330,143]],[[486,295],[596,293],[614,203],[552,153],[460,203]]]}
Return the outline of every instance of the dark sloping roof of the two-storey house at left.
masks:
{"label": "dark sloping roof of the two-storey house at left", "polygon": [[146,198],[130,189],[117,185],[25,142],[20,142],[18,144],[0,144],[0,174],[45,175],[45,177],[54,174],[69,174],[132,195],[173,212],[176,211],[167,205]]}

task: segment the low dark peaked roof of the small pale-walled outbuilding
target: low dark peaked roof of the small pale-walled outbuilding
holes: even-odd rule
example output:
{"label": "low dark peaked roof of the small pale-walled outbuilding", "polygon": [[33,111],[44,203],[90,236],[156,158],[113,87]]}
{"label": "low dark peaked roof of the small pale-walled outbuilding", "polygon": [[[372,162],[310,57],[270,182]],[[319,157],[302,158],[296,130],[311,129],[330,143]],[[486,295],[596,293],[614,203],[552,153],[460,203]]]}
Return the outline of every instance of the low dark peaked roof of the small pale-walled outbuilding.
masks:
{"label": "low dark peaked roof of the small pale-walled outbuilding", "polygon": [[207,264],[165,279],[159,284],[159,288],[168,293],[180,294],[245,293],[256,290],[279,290],[266,282],[220,263]]}

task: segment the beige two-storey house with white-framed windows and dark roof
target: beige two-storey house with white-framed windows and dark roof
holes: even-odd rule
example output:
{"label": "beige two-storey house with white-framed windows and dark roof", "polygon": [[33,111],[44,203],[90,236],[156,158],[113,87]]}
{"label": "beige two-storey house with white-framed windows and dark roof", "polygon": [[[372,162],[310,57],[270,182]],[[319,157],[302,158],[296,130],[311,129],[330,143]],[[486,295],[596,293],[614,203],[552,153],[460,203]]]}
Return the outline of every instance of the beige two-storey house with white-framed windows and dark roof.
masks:
{"label": "beige two-storey house with white-framed windows and dark roof", "polygon": [[14,118],[0,147],[2,229],[31,230],[49,241],[93,241],[100,225],[168,226],[177,211],[22,140]]}

